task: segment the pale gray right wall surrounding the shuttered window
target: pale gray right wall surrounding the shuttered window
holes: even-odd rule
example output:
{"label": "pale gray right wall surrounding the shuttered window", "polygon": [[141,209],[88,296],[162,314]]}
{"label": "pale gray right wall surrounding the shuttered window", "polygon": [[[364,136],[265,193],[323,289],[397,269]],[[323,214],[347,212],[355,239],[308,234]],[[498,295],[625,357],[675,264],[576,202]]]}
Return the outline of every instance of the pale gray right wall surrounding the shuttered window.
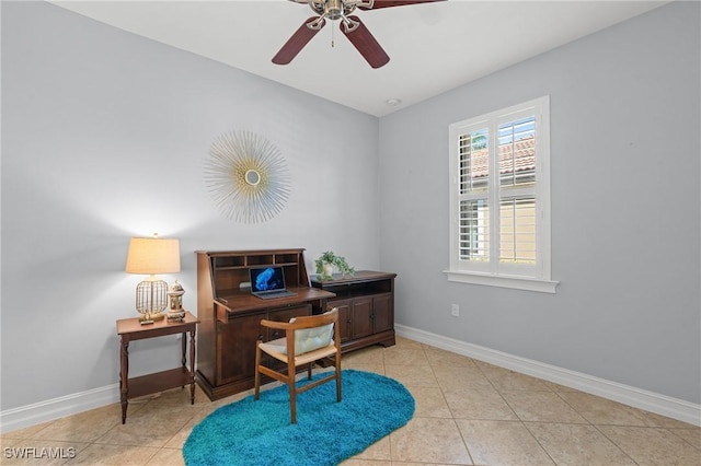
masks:
{"label": "pale gray right wall surrounding the shuttered window", "polygon": [[[699,31],[674,2],[382,118],[397,321],[700,403]],[[448,125],[547,94],[558,293],[448,283]]]}

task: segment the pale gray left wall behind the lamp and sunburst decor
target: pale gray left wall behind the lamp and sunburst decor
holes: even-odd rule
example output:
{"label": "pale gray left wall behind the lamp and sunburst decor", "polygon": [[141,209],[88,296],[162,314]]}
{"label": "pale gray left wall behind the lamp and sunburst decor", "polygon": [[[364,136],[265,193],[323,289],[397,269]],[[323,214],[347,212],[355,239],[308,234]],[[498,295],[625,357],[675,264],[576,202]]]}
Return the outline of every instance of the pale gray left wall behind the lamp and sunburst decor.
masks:
{"label": "pale gray left wall behind the lamp and sunburst decor", "polygon": [[[1,409],[118,382],[115,319],[136,315],[129,237],[195,249],[334,249],[379,267],[378,120],[45,2],[2,2]],[[319,130],[343,128],[345,140]],[[204,185],[211,142],[266,137],[289,166],[286,209],[222,217]],[[180,363],[173,337],[131,346],[131,374]]]}

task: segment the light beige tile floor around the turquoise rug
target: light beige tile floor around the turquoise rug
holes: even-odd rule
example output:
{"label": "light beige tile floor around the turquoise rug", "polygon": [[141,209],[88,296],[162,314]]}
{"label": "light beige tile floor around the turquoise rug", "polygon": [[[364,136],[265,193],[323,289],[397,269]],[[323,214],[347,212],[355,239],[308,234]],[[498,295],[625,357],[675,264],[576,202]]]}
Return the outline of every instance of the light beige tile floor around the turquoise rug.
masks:
{"label": "light beige tile floor around the turquoise rug", "polygon": [[[403,383],[414,418],[344,466],[701,465],[701,428],[399,338],[344,356],[344,369]],[[210,401],[175,389],[1,436],[2,464],[182,465],[191,429],[250,392]],[[73,458],[8,458],[8,447],[74,448]],[[55,450],[56,451],[56,450]],[[68,455],[65,455],[68,456]]]}

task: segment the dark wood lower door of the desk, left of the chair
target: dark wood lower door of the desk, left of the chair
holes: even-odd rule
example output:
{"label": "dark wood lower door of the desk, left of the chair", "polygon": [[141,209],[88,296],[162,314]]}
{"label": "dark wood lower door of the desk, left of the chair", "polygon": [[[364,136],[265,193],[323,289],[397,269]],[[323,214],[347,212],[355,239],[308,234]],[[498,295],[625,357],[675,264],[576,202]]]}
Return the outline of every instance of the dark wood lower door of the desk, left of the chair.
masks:
{"label": "dark wood lower door of the desk, left of the chair", "polygon": [[261,318],[254,314],[217,322],[217,385],[255,374],[255,345],[261,335]]}

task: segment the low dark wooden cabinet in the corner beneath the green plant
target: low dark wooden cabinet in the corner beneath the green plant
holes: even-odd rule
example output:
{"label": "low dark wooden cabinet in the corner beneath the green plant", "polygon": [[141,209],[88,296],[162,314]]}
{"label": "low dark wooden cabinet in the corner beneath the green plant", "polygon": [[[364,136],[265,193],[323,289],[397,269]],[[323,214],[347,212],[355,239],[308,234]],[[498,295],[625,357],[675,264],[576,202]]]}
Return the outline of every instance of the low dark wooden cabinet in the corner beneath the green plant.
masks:
{"label": "low dark wooden cabinet in the corner beneath the green plant", "polygon": [[360,270],[353,277],[312,278],[311,284],[335,294],[329,305],[338,308],[342,351],[380,343],[394,345],[394,278],[397,273]]}

